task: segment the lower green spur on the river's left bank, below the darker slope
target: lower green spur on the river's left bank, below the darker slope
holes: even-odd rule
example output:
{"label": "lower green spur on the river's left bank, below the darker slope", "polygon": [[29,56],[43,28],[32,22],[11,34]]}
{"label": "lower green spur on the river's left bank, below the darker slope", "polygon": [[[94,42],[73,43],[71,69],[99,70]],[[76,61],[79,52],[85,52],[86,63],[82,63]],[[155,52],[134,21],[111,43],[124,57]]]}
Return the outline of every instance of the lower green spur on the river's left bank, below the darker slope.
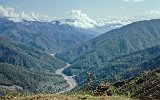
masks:
{"label": "lower green spur on the river's left bank, below the darker slope", "polygon": [[[57,92],[68,87],[63,77],[44,71],[0,63],[0,96],[16,92]],[[17,87],[17,89],[16,89]]]}

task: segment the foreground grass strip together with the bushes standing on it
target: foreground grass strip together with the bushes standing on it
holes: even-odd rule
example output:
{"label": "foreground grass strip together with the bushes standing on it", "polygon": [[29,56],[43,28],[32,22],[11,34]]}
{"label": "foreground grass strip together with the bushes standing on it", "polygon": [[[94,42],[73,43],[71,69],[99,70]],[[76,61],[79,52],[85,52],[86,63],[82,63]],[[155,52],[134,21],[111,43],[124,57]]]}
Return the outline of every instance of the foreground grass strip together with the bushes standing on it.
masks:
{"label": "foreground grass strip together with the bushes standing on it", "polygon": [[[90,74],[91,75],[91,74]],[[88,77],[89,79],[91,77]],[[90,80],[88,80],[90,83]],[[88,84],[86,90],[81,91],[74,91],[69,92],[66,94],[37,94],[37,95],[31,95],[31,94],[24,94],[24,93],[17,93],[2,96],[2,99],[7,100],[129,100],[128,97],[116,95],[111,88],[111,86],[107,85],[104,81],[99,82],[96,90],[91,89],[92,84]],[[90,89],[90,90],[89,90]]]}

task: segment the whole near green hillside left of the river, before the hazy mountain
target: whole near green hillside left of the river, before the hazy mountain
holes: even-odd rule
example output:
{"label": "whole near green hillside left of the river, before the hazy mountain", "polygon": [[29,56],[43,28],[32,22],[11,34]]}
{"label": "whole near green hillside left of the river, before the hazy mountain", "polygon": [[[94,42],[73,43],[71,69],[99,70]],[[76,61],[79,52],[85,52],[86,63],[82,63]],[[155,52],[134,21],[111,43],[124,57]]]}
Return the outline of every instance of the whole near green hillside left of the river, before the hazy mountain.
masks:
{"label": "whole near green hillside left of the river, before the hazy mountain", "polygon": [[18,86],[22,91],[56,92],[68,86],[63,77],[55,75],[56,69],[65,66],[63,61],[38,49],[0,39],[1,90]]}

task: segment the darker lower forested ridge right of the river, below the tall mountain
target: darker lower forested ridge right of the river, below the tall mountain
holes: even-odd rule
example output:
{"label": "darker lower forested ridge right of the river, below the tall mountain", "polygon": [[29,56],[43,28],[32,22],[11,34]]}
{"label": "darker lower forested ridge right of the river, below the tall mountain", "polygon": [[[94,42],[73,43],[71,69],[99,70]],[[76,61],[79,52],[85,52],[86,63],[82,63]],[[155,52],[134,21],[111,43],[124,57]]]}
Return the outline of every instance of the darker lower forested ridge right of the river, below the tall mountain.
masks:
{"label": "darker lower forested ridge right of the river, below the tall mountain", "polygon": [[[65,74],[76,75],[75,79],[79,84],[85,81],[87,71],[93,73],[94,80],[106,80],[116,82],[138,76],[145,71],[160,68],[160,46],[138,51],[124,56],[116,57],[107,62],[96,61],[92,58],[90,63],[80,60],[64,70]],[[94,62],[92,62],[94,61]]]}

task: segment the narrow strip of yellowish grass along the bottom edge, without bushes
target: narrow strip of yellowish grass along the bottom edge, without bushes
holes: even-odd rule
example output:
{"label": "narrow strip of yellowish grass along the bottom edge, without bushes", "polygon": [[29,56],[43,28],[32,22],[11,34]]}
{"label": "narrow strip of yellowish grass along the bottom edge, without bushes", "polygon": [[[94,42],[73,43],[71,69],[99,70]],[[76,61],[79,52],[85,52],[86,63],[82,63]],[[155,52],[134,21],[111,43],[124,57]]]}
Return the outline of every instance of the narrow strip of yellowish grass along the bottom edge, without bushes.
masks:
{"label": "narrow strip of yellowish grass along the bottom edge, without bushes", "polygon": [[38,94],[32,96],[6,96],[4,100],[130,100],[124,96],[91,96],[88,94]]}

